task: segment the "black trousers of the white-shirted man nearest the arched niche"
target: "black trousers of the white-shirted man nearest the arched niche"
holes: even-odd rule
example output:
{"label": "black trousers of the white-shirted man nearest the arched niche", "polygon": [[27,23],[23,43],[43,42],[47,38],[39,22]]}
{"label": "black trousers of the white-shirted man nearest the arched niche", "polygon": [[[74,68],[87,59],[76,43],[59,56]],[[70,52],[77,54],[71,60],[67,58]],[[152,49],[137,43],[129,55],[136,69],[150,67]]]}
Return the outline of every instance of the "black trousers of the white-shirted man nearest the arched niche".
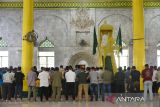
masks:
{"label": "black trousers of the white-shirted man nearest the arched niche", "polygon": [[66,82],[66,100],[69,95],[72,95],[72,99],[75,100],[75,82]]}

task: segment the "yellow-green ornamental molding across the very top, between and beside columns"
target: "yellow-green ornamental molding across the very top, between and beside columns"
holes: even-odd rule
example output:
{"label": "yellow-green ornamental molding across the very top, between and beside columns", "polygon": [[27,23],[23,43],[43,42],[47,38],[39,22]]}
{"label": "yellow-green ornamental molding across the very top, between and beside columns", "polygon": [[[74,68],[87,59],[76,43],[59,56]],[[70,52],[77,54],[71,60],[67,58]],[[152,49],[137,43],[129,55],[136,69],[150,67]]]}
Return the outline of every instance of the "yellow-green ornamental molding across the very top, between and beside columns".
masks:
{"label": "yellow-green ornamental molding across the very top, between and beside columns", "polygon": [[[132,1],[35,2],[35,8],[131,8]],[[0,2],[0,8],[22,8],[22,2]],[[160,1],[145,1],[144,7],[160,8]]]}

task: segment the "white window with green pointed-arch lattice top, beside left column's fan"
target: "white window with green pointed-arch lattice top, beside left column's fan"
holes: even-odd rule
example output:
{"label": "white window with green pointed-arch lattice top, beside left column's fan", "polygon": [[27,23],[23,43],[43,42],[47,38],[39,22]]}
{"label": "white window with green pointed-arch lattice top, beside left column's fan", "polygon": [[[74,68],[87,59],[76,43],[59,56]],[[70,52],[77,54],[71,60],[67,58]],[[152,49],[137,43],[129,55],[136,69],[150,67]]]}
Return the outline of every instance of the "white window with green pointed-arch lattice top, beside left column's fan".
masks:
{"label": "white window with green pointed-arch lattice top, beside left column's fan", "polygon": [[46,37],[39,45],[38,63],[39,67],[55,67],[54,44]]}

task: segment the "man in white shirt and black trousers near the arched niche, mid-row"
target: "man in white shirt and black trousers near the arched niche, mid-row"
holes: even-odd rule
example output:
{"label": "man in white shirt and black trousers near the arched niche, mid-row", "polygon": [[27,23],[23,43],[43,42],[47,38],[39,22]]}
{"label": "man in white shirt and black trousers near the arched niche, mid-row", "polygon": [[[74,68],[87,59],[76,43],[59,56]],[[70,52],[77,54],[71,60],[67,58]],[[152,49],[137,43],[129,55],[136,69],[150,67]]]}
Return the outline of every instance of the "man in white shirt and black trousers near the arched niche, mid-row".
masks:
{"label": "man in white shirt and black trousers near the arched niche, mid-row", "polygon": [[69,66],[69,71],[65,74],[66,78],[66,100],[68,100],[68,95],[72,95],[72,99],[75,100],[75,80],[76,73],[73,72],[72,66]]}

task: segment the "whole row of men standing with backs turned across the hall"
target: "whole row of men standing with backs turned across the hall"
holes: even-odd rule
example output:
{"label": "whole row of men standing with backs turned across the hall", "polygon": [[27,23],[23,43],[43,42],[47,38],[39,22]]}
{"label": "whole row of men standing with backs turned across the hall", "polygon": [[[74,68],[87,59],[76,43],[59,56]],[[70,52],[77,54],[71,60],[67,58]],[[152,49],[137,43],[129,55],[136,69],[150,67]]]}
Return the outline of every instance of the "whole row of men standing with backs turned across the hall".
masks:
{"label": "whole row of men standing with backs turned across the hall", "polygon": [[18,68],[0,68],[0,99],[11,101],[23,99],[23,82],[26,79],[28,85],[28,100],[36,101],[40,98],[43,101],[52,99],[61,101],[72,100],[82,101],[105,101],[106,96],[112,93],[140,93],[140,77],[144,81],[144,98],[147,99],[149,90],[150,100],[153,100],[153,93],[158,93],[160,87],[160,67],[145,65],[145,69],[140,73],[135,66],[131,68],[118,68],[118,72],[113,73],[108,68],[66,66],[63,68],[44,68],[40,71],[34,66],[26,74]]}

